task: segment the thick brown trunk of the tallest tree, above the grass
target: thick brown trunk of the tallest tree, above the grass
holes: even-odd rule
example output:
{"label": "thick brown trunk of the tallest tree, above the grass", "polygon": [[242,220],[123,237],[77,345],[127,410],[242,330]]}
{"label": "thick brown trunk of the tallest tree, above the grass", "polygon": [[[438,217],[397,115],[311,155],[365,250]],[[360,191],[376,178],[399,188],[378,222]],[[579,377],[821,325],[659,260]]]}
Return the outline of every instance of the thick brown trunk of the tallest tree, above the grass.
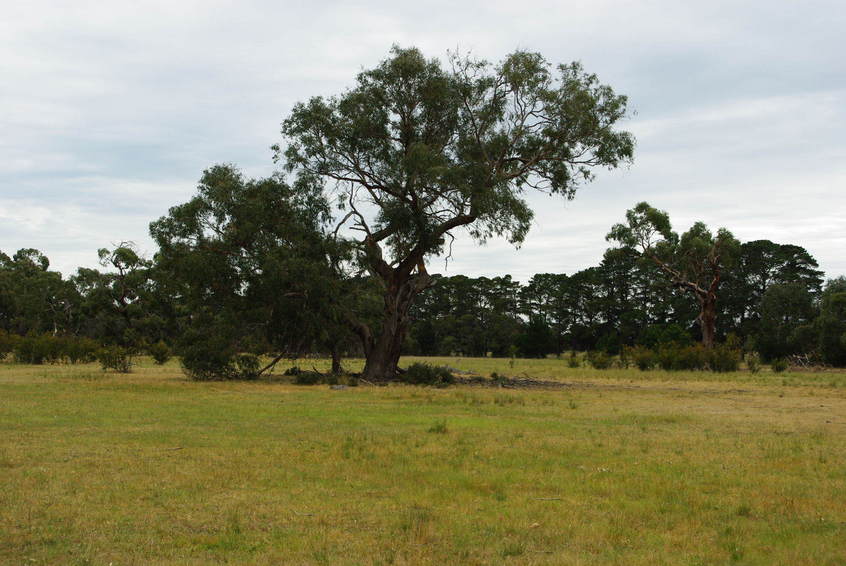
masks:
{"label": "thick brown trunk of the tallest tree, above the grass", "polygon": [[385,309],[379,335],[365,344],[365,379],[392,379],[398,373],[399,357],[408,331],[408,310],[414,298],[431,285],[426,273],[414,275],[394,272],[385,288]]}

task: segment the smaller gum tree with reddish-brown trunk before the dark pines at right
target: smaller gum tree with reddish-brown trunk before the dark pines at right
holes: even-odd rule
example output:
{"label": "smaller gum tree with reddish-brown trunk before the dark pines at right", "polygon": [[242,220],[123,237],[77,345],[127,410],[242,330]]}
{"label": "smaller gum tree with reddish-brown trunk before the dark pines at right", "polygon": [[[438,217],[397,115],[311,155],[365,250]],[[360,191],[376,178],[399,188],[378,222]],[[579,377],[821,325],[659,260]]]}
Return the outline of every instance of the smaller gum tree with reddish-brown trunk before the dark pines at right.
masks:
{"label": "smaller gum tree with reddish-brown trunk before the dark pines at right", "polygon": [[626,224],[616,224],[607,239],[637,250],[652,261],[673,286],[693,294],[699,303],[697,320],[702,343],[716,338],[717,292],[724,271],[737,258],[740,242],[725,228],[713,234],[702,222],[679,236],[666,212],[642,202],[626,212]]}

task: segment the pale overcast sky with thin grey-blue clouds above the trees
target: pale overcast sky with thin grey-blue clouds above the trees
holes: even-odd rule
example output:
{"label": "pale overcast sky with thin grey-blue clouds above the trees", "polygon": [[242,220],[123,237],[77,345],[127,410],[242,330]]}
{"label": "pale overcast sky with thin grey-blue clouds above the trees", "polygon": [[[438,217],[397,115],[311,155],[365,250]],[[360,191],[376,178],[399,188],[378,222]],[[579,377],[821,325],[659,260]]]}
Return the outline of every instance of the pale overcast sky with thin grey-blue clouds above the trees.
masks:
{"label": "pale overcast sky with thin grey-blue clouds above the trees", "polygon": [[629,97],[630,167],[573,201],[531,195],[522,248],[459,239],[430,272],[526,281],[596,265],[648,201],[678,231],[805,247],[846,274],[846,5],[834,1],[86,2],[4,6],[0,250],[66,275],[136,242],[202,171],[274,170],[297,101],[352,86],[393,44],[581,61]]}

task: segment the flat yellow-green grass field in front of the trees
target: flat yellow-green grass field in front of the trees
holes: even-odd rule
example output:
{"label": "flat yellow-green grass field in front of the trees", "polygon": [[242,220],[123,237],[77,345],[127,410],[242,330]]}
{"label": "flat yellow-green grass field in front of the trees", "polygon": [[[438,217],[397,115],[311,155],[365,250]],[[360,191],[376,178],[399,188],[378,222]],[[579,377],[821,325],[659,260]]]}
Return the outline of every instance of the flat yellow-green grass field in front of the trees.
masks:
{"label": "flat yellow-green grass field in front of the trees", "polygon": [[842,372],[435,361],[571,386],[0,363],[0,564],[846,564]]}

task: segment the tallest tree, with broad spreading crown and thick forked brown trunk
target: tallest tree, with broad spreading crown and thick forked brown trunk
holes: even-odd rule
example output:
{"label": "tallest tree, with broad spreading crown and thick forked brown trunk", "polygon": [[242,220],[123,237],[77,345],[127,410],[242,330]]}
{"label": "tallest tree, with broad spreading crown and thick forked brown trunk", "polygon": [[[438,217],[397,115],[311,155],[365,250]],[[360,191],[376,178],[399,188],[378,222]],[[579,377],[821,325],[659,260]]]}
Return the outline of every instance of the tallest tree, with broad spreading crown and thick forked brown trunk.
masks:
{"label": "tallest tree, with broad spreading crown and thick forked brown trunk", "polygon": [[572,198],[597,167],[628,162],[634,142],[615,129],[626,98],[579,64],[552,68],[523,51],[498,65],[453,56],[449,66],[395,47],[357,84],[295,106],[277,158],[303,179],[333,184],[361,233],[359,260],[381,282],[379,328],[357,325],[364,375],[393,377],[425,267],[449,254],[457,230],[519,244],[527,189]]}

